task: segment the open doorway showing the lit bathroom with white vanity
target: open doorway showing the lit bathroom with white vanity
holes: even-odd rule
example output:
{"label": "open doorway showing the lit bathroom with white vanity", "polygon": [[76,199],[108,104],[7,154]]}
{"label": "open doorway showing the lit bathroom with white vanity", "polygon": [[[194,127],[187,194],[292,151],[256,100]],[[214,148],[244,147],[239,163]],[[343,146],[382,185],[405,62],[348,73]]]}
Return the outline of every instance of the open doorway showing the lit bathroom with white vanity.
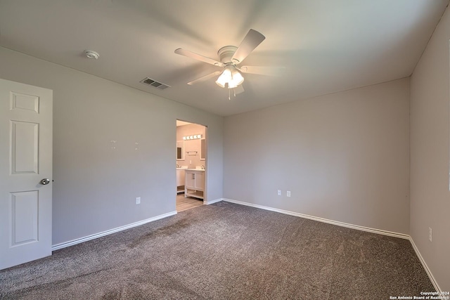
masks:
{"label": "open doorway showing the lit bathroom with white vanity", "polygon": [[206,202],[207,127],[176,120],[176,211]]}

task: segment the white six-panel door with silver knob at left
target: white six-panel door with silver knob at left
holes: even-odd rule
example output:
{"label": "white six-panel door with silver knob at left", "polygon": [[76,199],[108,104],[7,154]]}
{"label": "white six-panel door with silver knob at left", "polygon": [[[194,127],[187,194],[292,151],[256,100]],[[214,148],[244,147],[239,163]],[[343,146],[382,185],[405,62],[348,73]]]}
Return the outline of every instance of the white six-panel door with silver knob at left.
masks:
{"label": "white six-panel door with silver knob at left", "polygon": [[51,255],[52,106],[53,91],[0,79],[0,270]]}

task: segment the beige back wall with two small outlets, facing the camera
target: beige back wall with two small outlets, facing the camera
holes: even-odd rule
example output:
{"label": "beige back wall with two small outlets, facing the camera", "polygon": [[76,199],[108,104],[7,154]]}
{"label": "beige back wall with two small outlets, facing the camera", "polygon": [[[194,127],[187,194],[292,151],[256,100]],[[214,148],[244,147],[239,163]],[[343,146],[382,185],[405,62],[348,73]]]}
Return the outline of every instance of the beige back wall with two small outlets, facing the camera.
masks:
{"label": "beige back wall with two small outlets, facing the camera", "polygon": [[408,234],[409,79],[226,117],[224,197]]}

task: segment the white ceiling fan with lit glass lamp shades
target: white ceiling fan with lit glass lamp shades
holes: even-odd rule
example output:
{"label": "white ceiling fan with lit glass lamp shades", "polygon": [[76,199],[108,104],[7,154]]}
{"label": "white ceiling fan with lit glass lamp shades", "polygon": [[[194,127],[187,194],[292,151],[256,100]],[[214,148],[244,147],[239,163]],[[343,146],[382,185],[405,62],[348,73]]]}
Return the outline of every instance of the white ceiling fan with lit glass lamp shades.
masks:
{"label": "white ceiling fan with lit glass lamp shades", "polygon": [[283,67],[262,67],[255,65],[244,65],[239,66],[240,63],[247,58],[247,56],[252,53],[255,48],[264,41],[266,37],[256,30],[249,30],[243,41],[240,43],[239,47],[236,46],[224,46],[217,51],[219,60],[214,60],[212,58],[207,58],[201,56],[200,54],[193,53],[191,51],[178,48],[175,50],[176,54],[181,56],[187,56],[188,58],[193,58],[195,60],[200,60],[204,63],[209,63],[210,65],[215,65],[221,67],[224,70],[216,71],[211,74],[207,74],[203,77],[189,81],[189,85],[197,84],[200,81],[205,81],[212,77],[220,76],[216,80],[216,84],[222,88],[235,89],[236,93],[242,93],[244,91],[242,83],[244,77],[242,73],[249,74],[261,74],[261,75],[279,75]]}

